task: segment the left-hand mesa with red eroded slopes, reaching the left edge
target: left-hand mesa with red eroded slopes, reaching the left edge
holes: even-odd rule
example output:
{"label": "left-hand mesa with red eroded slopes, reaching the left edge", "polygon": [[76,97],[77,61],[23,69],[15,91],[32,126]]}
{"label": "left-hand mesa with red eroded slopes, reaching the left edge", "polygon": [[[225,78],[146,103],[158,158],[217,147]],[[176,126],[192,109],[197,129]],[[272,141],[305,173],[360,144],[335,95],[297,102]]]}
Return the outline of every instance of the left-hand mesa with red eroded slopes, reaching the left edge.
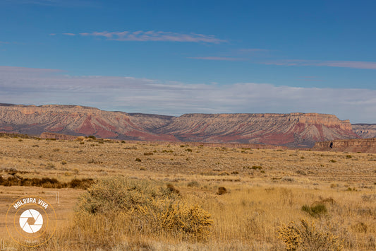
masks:
{"label": "left-hand mesa with red eroded slopes, reaching the left edge", "polygon": [[31,135],[55,132],[111,139],[176,141],[174,136],[150,132],[151,128],[166,124],[168,118],[140,123],[140,119],[125,112],[107,112],[78,105],[0,105],[0,131]]}

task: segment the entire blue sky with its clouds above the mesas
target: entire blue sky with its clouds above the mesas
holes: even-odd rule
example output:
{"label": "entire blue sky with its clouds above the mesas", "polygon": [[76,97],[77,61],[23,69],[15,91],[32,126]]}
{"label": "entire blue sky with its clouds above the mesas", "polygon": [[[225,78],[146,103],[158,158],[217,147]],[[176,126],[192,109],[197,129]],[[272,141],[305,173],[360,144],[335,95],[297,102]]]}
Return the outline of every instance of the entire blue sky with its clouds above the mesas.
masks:
{"label": "entire blue sky with its clouds above the mesas", "polygon": [[1,103],[375,122],[376,1],[0,1]]}

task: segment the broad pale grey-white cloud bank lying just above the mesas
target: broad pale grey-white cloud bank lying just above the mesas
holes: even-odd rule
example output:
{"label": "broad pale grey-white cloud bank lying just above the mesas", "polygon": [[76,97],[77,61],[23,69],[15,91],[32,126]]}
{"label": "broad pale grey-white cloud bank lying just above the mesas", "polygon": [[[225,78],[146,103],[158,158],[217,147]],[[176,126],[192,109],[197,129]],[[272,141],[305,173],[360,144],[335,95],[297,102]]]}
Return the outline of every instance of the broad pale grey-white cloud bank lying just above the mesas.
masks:
{"label": "broad pale grey-white cloud bank lying just above the mesas", "polygon": [[55,69],[0,66],[1,103],[75,104],[164,115],[319,112],[376,122],[376,91],[269,83],[188,84],[119,76],[68,76]]}

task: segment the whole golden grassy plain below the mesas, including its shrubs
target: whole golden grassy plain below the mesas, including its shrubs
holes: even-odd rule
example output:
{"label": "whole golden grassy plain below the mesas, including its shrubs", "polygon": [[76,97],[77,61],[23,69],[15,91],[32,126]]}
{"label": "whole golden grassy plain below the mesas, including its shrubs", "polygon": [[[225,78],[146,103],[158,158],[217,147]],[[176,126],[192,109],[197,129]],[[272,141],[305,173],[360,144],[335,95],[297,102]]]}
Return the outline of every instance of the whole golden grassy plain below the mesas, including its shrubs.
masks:
{"label": "whole golden grassy plain below the mesas, including its shrubs", "polygon": [[37,250],[376,248],[376,154],[4,136],[0,175],[2,218],[20,196],[59,192]]}

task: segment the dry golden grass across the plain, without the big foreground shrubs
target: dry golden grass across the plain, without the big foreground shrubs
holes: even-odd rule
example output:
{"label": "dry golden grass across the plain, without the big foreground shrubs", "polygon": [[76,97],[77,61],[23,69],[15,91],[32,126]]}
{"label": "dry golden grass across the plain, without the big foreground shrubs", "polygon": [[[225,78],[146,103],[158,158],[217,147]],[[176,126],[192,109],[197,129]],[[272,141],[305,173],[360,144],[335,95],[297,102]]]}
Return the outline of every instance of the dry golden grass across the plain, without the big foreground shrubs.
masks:
{"label": "dry golden grass across the plain, without the big foreground shrubs", "polygon": [[[302,219],[309,231],[301,236],[315,241],[301,237],[298,249],[320,250],[315,245],[329,240],[320,239],[326,233],[339,240],[337,247],[344,250],[376,248],[376,154],[101,142],[0,138],[0,175],[61,182],[125,176],[157,182],[160,187],[170,183],[185,203],[198,204],[210,214],[209,238],[141,233],[124,226],[131,222],[127,212],[91,216],[92,221],[80,226],[73,220],[73,209],[85,190],[54,189],[61,192],[61,199],[70,199],[60,205],[58,218],[64,223],[42,250],[284,250],[288,245],[281,229],[302,230]],[[219,195],[219,187],[227,192]],[[14,200],[23,193],[47,190],[51,189],[0,187],[0,198]],[[302,211],[302,206],[317,204],[324,204],[327,212],[311,216]],[[103,221],[107,225],[98,224]],[[0,238],[8,246],[15,245],[4,226],[0,228]]]}

